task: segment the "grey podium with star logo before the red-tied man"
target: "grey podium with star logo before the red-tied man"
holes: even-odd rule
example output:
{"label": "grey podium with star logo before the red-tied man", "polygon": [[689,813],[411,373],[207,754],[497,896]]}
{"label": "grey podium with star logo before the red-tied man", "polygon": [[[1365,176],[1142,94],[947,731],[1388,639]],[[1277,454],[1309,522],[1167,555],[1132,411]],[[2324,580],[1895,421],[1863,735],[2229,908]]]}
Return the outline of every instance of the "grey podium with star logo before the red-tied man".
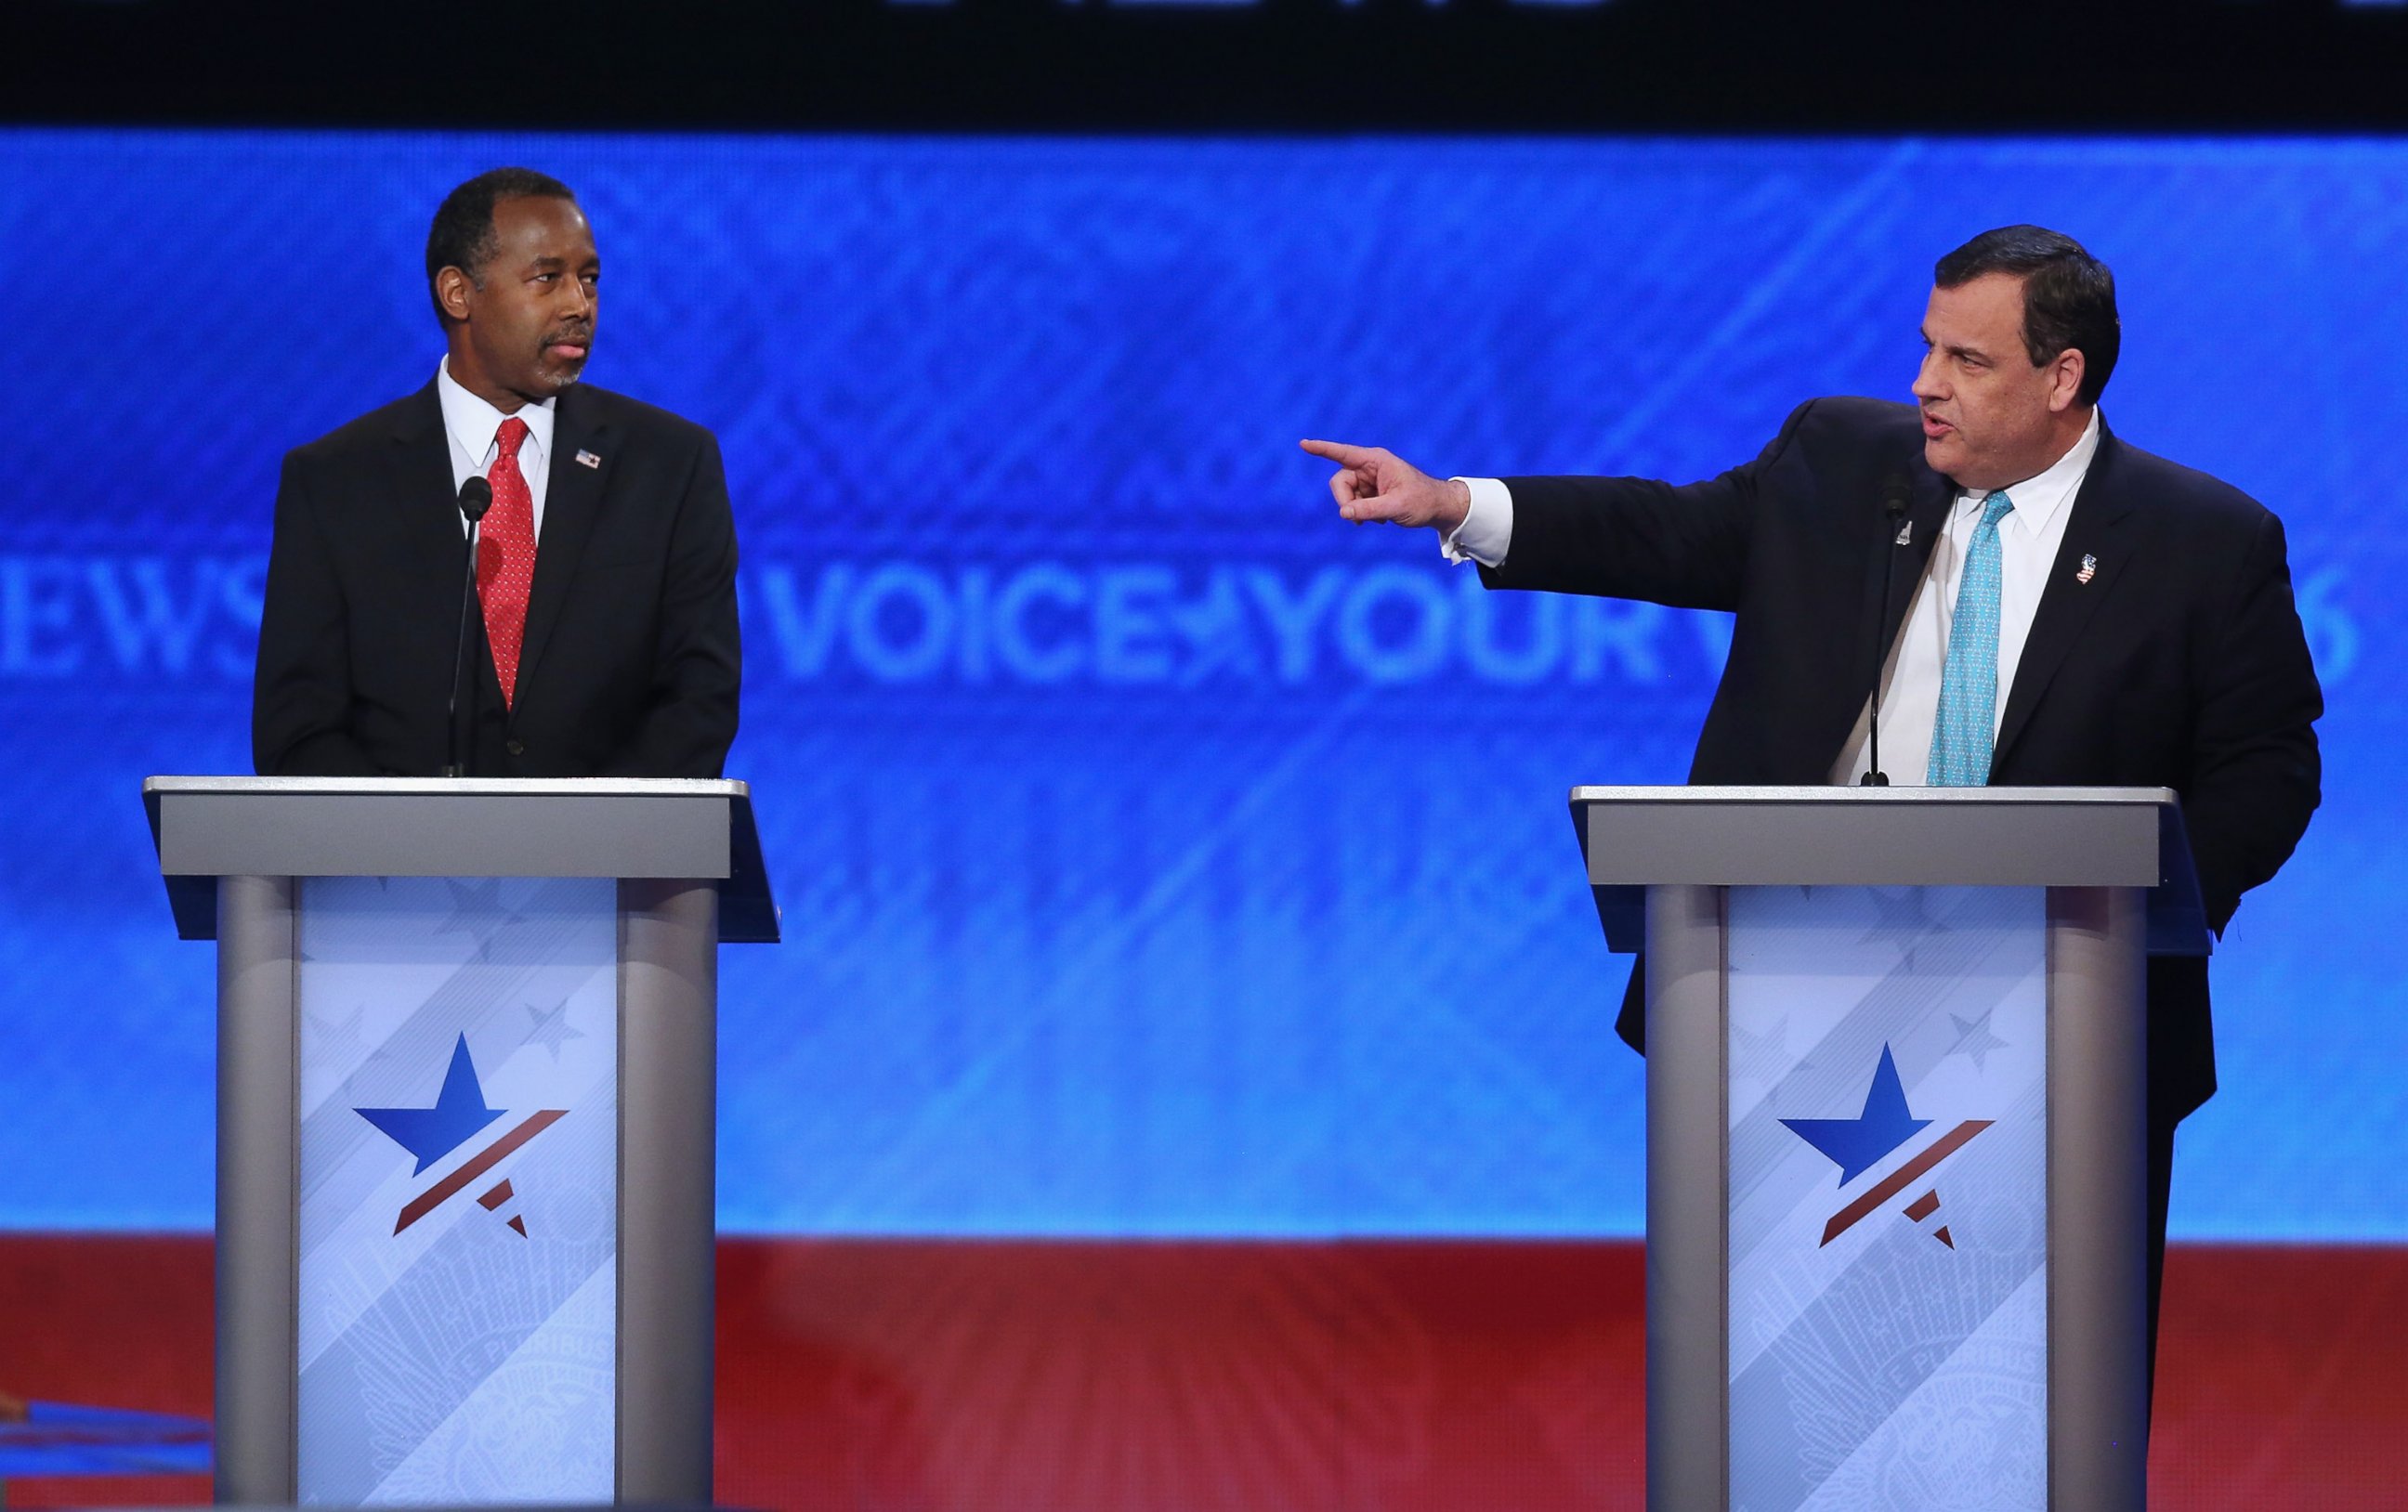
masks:
{"label": "grey podium with star logo before the red-tied man", "polygon": [[217,941],[217,1500],[710,1500],[744,782],[152,778]]}

